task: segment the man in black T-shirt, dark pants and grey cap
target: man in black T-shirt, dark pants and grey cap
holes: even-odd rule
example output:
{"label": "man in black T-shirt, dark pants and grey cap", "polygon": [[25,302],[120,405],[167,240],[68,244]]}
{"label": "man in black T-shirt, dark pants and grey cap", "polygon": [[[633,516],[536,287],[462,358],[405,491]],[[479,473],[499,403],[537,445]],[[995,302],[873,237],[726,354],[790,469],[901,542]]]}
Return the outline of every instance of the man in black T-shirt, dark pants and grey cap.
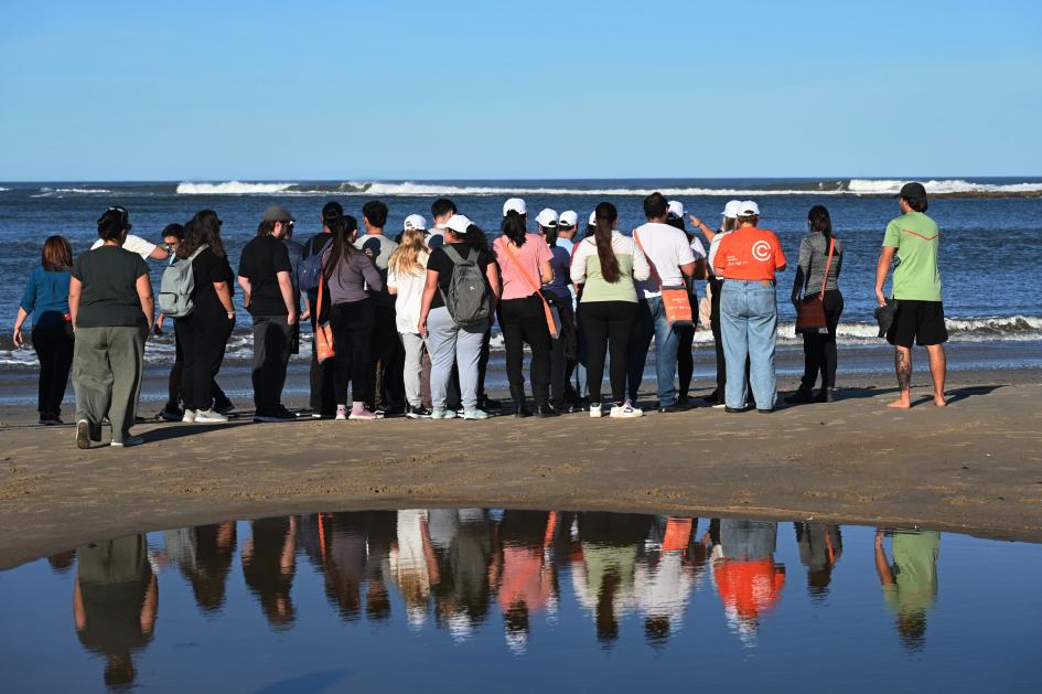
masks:
{"label": "man in black T-shirt, dark pants and grey cap", "polygon": [[286,366],[293,349],[297,306],[289,252],[280,243],[293,215],[281,205],[265,210],[264,220],[239,258],[243,301],[254,317],[254,421],[292,421],[282,405]]}

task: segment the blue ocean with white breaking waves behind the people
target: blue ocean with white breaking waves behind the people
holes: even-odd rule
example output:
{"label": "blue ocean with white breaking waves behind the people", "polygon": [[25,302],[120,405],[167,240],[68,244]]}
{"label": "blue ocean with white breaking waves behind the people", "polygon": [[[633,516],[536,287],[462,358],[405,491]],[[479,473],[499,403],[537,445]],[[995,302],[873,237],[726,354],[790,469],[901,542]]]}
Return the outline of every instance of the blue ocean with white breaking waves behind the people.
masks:
{"label": "blue ocean with white breaking waves behind the people", "polygon": [[[1042,365],[1042,178],[920,180],[932,195],[928,214],[942,229],[941,271],[952,351],[958,350],[958,343],[976,343],[967,350],[976,355],[974,367]],[[525,197],[533,218],[540,209],[552,207],[574,210],[580,223],[599,202],[609,200],[619,209],[620,229],[627,231],[643,223],[643,196],[656,190],[679,200],[710,225],[719,222],[728,200],[756,200],[761,226],[777,233],[793,266],[806,233],[807,211],[815,204],[826,205],[847,254],[840,278],[846,309],[839,342],[845,354],[855,357],[848,363],[863,369],[866,354],[872,355],[869,361],[879,361],[881,354],[872,319],[876,258],[888,221],[900,214],[894,194],[901,184],[896,179],[0,183],[0,281],[9,287],[0,295],[0,375],[35,366],[31,349],[14,350],[11,327],[29,274],[40,261],[43,239],[64,234],[76,254],[86,250],[97,237],[95,221],[109,205],[126,206],[133,233],[152,241],[159,241],[160,231],[171,222],[183,223],[200,210],[215,210],[224,221],[223,237],[235,268],[241,247],[273,202],[296,215],[300,242],[321,231],[320,211],[327,200],[340,201],[359,220],[367,200],[384,200],[390,209],[387,231],[393,235],[409,214],[430,220],[430,204],[439,196],[451,197],[492,237],[506,197]],[[163,266],[152,263],[157,287]],[[787,300],[793,276],[789,269],[778,278],[780,356],[799,352]],[[245,365],[251,352],[249,318],[238,296],[236,305],[239,321],[229,344],[229,369]],[[699,353],[706,356],[708,343],[711,334],[699,330],[697,359]],[[502,360],[498,337],[493,346],[497,348],[495,359]],[[982,352],[986,346],[996,349]],[[160,335],[150,340],[147,360],[158,367],[169,363],[172,353],[171,338]],[[791,356],[799,361],[798,354]],[[887,357],[881,359],[879,370],[889,367]],[[705,362],[698,361],[696,375],[700,376]]]}

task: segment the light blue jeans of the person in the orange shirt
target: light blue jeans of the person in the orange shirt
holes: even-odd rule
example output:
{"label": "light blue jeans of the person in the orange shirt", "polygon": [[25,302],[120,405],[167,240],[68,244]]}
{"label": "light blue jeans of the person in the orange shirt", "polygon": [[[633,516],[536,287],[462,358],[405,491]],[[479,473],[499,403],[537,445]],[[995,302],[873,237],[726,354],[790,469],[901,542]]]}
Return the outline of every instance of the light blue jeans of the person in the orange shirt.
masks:
{"label": "light blue jeans of the person in the orange shirt", "polygon": [[777,302],[773,284],[728,279],[720,297],[720,332],[727,361],[728,407],[745,404],[745,357],[758,409],[773,409],[777,398],[774,351],[777,341]]}

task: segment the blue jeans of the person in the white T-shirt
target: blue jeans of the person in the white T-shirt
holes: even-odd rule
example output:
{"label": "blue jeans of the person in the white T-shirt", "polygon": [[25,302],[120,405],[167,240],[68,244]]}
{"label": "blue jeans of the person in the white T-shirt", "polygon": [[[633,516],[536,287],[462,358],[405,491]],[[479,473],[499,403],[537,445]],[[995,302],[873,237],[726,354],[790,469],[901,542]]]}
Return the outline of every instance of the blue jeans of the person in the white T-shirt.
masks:
{"label": "blue jeans of the person in the white T-shirt", "polygon": [[633,325],[633,337],[626,364],[626,386],[630,399],[636,402],[641,381],[644,378],[644,362],[647,349],[655,338],[655,374],[658,381],[658,406],[668,407],[677,402],[677,350],[680,335],[669,327],[662,297],[641,299],[637,302],[637,319]]}

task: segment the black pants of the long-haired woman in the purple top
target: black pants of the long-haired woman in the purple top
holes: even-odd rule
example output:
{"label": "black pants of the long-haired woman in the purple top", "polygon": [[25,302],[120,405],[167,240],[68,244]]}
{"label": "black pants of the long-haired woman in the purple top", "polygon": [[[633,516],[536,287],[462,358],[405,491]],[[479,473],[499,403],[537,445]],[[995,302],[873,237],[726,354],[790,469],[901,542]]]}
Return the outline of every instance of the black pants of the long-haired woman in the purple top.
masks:
{"label": "black pants of the long-haired woman in the purple top", "polygon": [[333,327],[333,394],[337,405],[347,404],[347,382],[351,401],[365,399],[369,378],[369,343],[373,334],[373,303],[369,299],[334,303],[330,311]]}

